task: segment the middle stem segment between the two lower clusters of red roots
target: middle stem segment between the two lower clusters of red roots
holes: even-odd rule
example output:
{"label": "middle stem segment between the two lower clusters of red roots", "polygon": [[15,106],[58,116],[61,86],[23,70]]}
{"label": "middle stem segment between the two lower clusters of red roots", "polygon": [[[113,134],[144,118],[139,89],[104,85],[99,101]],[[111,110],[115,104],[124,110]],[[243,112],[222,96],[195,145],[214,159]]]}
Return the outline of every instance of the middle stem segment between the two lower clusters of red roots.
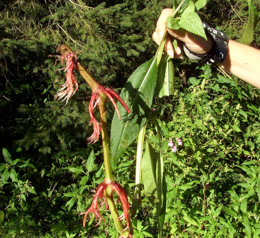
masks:
{"label": "middle stem segment between the two lower clusters of red roots", "polygon": [[99,93],[99,113],[100,113],[100,125],[101,125],[101,135],[102,135],[102,145],[103,145],[103,155],[104,155],[104,167],[105,167],[105,181],[107,184],[115,182],[110,162],[110,152],[109,152],[109,137],[107,132],[107,116],[106,116],[106,104],[107,95],[104,93]]}

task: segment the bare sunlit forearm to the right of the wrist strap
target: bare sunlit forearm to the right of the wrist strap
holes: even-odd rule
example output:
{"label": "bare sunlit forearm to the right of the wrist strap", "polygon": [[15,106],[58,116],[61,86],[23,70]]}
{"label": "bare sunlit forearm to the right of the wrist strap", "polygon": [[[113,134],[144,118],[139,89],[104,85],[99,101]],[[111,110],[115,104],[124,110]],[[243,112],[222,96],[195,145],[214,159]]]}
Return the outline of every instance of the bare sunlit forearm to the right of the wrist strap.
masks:
{"label": "bare sunlit forearm to the right of the wrist strap", "polygon": [[218,64],[237,78],[260,89],[260,50],[229,40],[226,60]]}

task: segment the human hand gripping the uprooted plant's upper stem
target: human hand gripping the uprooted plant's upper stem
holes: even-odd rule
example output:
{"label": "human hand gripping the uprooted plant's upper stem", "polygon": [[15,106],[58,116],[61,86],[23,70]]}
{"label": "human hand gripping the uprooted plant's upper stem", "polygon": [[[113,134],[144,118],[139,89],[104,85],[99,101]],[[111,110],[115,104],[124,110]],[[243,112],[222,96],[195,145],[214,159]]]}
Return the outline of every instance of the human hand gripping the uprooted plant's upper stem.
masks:
{"label": "human hand gripping the uprooted plant's upper stem", "polygon": [[[203,37],[187,32],[185,29],[180,28],[178,30],[173,30],[166,27],[167,18],[171,15],[172,9],[166,8],[162,10],[157,21],[155,32],[153,33],[153,40],[159,45],[164,35],[164,31],[167,28],[169,35],[166,38],[164,49],[171,58],[181,58],[182,56],[185,56],[181,41],[187,46],[188,49],[196,54],[205,55],[210,51],[212,47],[212,40],[209,36],[207,36],[207,40],[205,40]],[[176,51],[174,51],[171,36],[177,39]]]}

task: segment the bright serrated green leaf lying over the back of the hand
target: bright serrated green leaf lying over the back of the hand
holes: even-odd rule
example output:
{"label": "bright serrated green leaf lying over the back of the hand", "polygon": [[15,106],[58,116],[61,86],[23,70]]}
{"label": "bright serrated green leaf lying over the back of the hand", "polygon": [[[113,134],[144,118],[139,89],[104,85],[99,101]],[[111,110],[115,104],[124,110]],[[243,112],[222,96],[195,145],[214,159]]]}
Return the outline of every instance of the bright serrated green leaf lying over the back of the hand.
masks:
{"label": "bright serrated green leaf lying over the back of the hand", "polygon": [[200,17],[195,12],[187,12],[181,15],[180,27],[188,32],[194,33],[198,36],[202,36],[207,40],[205,30],[203,28]]}

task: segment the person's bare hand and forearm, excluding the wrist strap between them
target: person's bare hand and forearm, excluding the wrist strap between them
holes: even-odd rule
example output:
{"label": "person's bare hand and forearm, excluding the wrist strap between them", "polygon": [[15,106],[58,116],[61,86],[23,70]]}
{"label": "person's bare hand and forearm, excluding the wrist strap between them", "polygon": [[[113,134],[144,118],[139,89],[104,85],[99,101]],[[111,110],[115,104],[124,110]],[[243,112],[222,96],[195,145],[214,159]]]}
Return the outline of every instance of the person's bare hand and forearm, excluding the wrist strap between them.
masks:
{"label": "person's bare hand and forearm, excluding the wrist strap between them", "polygon": [[[160,43],[161,37],[166,30],[167,17],[172,14],[172,9],[164,9],[158,19],[156,31],[153,39],[157,44]],[[171,58],[181,58],[181,41],[194,53],[205,54],[212,47],[212,41],[208,37],[206,41],[200,36],[196,36],[183,29],[172,30],[167,28],[169,34],[176,38],[178,47],[174,52],[170,36],[166,39],[165,50]],[[222,69],[237,76],[237,78],[260,89],[260,50],[243,45],[233,40],[229,40],[226,60],[218,64]]]}

